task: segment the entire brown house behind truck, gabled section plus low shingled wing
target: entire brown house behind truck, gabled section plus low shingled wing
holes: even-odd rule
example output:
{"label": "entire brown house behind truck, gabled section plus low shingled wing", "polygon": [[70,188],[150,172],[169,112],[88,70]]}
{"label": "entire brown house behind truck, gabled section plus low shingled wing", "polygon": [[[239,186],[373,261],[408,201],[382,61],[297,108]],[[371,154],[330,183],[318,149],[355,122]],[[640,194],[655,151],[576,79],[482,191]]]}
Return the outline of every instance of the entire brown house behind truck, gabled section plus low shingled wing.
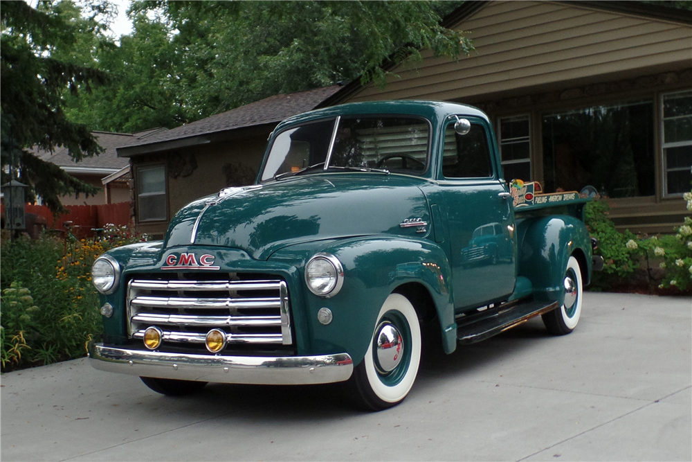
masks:
{"label": "entire brown house behind truck, gabled section plus low shingled wing", "polygon": [[692,12],[629,1],[468,1],[458,61],[422,51],[384,88],[277,95],[118,148],[134,170],[136,224],[161,236],[184,204],[255,178],[282,119],[341,103],[450,100],[491,117],[506,179],[547,192],[592,186],[619,229],[671,232],[692,181]]}

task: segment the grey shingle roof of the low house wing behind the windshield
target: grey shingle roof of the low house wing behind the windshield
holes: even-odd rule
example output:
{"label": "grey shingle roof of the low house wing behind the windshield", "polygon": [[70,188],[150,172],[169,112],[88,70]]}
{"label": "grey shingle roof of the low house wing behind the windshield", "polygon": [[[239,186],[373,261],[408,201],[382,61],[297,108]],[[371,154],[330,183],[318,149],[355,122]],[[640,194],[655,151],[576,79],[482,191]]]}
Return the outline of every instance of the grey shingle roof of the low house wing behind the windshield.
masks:
{"label": "grey shingle roof of the low house wing behind the windshield", "polygon": [[264,100],[231,109],[228,112],[203,118],[200,121],[181,125],[165,132],[156,132],[131,145],[172,141],[190,136],[222,132],[224,130],[263,125],[265,123],[278,123],[285,118],[315,109],[317,105],[340,89],[340,86],[334,85],[298,93],[270,96],[269,98],[264,98]]}

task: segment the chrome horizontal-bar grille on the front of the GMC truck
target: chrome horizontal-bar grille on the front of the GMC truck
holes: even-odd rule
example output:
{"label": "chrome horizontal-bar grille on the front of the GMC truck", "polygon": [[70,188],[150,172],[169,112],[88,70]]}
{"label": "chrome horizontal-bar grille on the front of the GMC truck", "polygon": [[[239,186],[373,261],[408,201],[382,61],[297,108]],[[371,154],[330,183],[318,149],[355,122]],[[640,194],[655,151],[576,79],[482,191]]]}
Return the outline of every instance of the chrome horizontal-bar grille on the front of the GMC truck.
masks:
{"label": "chrome horizontal-bar grille on the front of the GMC truck", "polygon": [[[218,276],[217,276],[218,277]],[[135,278],[127,285],[129,336],[151,326],[164,344],[201,344],[226,332],[227,344],[291,345],[289,292],[282,280],[190,281]]]}

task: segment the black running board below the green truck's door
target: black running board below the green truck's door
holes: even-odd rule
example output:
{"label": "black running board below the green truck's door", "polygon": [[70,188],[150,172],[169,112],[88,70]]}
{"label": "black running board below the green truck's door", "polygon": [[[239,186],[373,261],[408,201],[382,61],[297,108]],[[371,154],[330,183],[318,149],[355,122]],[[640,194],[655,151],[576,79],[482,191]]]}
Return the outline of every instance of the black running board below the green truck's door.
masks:
{"label": "black running board below the green truck's door", "polygon": [[485,312],[459,317],[457,341],[459,344],[475,344],[555,308],[558,308],[556,301],[532,300],[525,303],[505,303]]}

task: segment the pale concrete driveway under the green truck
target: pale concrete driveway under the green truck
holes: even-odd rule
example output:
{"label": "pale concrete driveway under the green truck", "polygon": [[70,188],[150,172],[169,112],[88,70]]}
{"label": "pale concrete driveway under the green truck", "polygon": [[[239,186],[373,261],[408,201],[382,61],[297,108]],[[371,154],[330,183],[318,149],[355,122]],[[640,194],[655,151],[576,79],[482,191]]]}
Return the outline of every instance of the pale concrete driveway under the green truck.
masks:
{"label": "pale concrete driveway under the green truck", "polygon": [[168,398],[86,359],[1,377],[3,461],[692,460],[692,299],[586,294],[572,334],[534,319],[428,362],[376,414],[334,386]]}

